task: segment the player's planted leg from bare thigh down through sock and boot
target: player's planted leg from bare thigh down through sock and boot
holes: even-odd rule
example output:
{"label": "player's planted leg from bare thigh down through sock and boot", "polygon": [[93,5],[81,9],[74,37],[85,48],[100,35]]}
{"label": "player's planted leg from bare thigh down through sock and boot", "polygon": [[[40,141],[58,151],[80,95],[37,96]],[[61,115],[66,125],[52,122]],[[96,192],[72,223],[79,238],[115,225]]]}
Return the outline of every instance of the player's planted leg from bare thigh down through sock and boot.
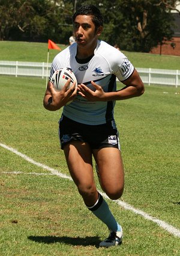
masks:
{"label": "player's planted leg from bare thigh down through sock and boot", "polygon": [[[119,244],[122,240],[121,226],[116,222],[106,201],[104,201],[95,187],[92,170],[92,153],[89,145],[87,143],[73,141],[64,146],[64,152],[71,176],[86,206],[98,219],[108,226],[110,231],[116,231],[111,233],[110,243],[103,242],[100,246],[107,247]],[[121,236],[119,234],[121,234]]]}

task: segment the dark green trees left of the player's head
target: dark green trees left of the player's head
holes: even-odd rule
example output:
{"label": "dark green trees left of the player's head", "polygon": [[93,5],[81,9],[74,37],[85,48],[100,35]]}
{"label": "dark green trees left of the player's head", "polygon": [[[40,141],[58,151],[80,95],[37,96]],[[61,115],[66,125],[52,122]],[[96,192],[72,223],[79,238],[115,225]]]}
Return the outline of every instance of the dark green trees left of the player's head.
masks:
{"label": "dark green trees left of the player's head", "polygon": [[[63,1],[1,0],[0,40],[31,40],[44,42],[51,38],[60,42],[72,33],[73,5],[65,11]],[[66,43],[68,40],[66,40]],[[63,43],[63,42],[62,42]]]}

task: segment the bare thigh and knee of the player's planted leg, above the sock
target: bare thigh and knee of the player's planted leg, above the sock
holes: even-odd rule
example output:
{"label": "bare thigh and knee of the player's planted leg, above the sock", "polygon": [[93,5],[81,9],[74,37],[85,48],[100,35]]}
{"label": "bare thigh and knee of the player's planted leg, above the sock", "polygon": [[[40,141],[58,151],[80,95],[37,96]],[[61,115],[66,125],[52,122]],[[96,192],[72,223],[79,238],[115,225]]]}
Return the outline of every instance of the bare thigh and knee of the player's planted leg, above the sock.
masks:
{"label": "bare thigh and knee of the player's planted leg, above the sock", "polygon": [[64,146],[71,177],[87,206],[94,205],[98,199],[92,169],[92,152],[88,143],[72,141]]}

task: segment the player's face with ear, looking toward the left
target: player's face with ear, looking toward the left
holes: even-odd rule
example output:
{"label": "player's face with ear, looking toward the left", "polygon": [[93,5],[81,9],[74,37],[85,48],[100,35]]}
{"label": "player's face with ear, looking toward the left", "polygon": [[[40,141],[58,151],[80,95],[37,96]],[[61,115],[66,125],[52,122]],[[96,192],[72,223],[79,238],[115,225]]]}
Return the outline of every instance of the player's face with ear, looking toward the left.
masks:
{"label": "player's face with ear, looking toward the left", "polygon": [[78,47],[91,48],[97,44],[98,36],[100,36],[102,27],[95,30],[92,17],[87,15],[78,15],[74,20],[74,34]]}

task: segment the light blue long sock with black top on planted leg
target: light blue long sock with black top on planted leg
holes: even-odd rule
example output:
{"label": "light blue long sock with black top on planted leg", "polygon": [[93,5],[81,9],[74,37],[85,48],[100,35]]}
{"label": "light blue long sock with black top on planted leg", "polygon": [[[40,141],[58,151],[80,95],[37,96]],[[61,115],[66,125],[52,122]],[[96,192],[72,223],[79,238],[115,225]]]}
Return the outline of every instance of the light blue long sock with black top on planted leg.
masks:
{"label": "light blue long sock with black top on planted leg", "polygon": [[103,196],[101,196],[100,193],[97,202],[92,205],[92,207],[88,207],[88,209],[91,210],[98,219],[104,222],[110,231],[121,231],[121,226],[116,222],[115,217],[109,210],[107,202],[104,201]]}

